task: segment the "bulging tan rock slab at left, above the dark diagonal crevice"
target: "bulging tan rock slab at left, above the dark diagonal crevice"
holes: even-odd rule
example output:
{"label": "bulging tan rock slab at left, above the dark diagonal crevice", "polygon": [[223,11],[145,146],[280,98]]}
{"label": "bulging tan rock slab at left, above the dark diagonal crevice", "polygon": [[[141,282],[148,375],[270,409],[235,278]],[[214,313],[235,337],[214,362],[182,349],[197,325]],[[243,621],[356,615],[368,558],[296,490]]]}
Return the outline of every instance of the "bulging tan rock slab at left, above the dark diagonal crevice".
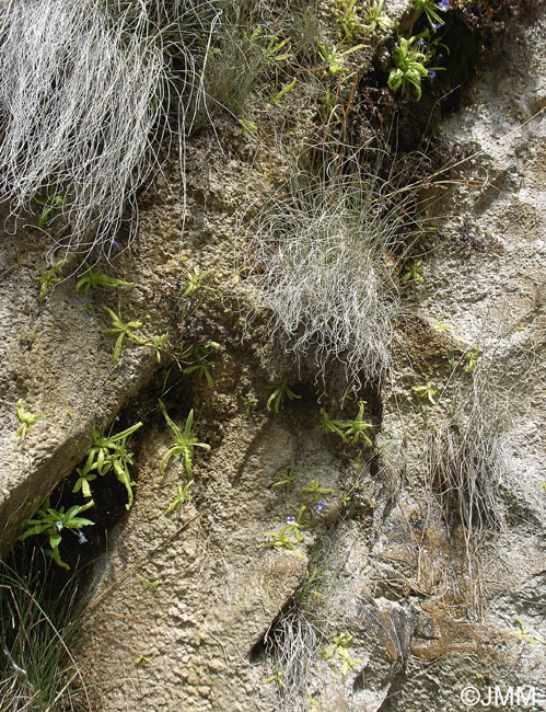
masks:
{"label": "bulging tan rock slab at left, above the dark diagonal crevice", "polygon": [[[176,237],[164,215],[163,234],[169,242]],[[172,218],[171,218],[172,219]],[[171,229],[170,229],[171,228]],[[82,459],[91,445],[94,427],[105,428],[127,399],[149,381],[158,367],[149,348],[124,349],[118,365],[113,365],[115,338],[104,334],[112,326],[105,306],[118,311],[129,321],[138,314],[149,333],[172,329],[158,300],[165,264],[151,262],[152,255],[131,257],[120,266],[136,283],[129,292],[92,290],[75,292],[77,279],[70,276],[73,265],[65,264],[55,273],[53,294],[42,302],[39,279],[49,272],[43,266],[45,240],[32,228],[22,228],[2,242],[2,430],[1,447],[9,463],[2,478],[0,512],[3,521],[2,547],[13,538],[19,521],[30,514],[30,493],[36,503]],[[142,245],[146,252],[146,246]],[[143,269],[154,274],[147,283]],[[166,265],[169,271],[169,265]],[[154,289],[154,294],[150,294]],[[106,292],[106,294],[105,294]],[[27,412],[39,414],[33,433],[23,443],[15,437],[20,423],[15,403],[22,400]],[[36,497],[36,498],[34,498]],[[31,504],[32,506],[32,504]]]}

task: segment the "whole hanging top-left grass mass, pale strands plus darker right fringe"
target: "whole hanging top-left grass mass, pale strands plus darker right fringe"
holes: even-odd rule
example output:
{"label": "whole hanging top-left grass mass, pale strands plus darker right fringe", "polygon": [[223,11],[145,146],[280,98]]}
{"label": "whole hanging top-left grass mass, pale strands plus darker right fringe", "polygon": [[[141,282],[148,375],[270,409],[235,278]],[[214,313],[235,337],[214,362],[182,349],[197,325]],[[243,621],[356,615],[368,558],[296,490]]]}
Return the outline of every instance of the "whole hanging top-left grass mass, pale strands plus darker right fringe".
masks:
{"label": "whole hanging top-left grass mass, pale strands plus darker right fringe", "polygon": [[184,136],[187,88],[200,91],[201,10],[213,22],[207,1],[0,3],[0,199],[21,214],[60,196],[57,249],[108,255],[127,202],[135,228],[136,191],[172,137],[165,114]]}

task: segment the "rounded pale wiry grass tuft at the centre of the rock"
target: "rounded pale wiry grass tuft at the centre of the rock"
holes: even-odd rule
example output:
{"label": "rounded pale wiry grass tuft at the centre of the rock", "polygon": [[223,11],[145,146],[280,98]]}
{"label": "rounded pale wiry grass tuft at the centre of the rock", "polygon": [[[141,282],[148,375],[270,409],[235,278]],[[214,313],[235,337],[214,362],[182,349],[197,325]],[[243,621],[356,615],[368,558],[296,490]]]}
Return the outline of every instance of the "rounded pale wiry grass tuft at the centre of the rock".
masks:
{"label": "rounded pale wiry grass tuft at the centre of the rock", "polygon": [[357,386],[388,375],[416,194],[381,179],[379,166],[332,161],[320,175],[300,172],[252,225],[252,306],[270,314],[268,331],[287,353],[312,356],[317,378],[335,363]]}

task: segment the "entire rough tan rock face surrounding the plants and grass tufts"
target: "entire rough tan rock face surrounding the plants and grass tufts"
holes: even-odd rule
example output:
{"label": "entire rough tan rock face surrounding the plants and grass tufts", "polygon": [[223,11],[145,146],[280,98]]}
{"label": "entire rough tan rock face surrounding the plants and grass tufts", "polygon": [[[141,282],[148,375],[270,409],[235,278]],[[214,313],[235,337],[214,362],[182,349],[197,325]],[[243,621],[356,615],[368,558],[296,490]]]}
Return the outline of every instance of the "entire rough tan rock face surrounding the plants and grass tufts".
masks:
{"label": "entire rough tan rock face surrounding the plants and grass tufts", "polygon": [[[520,709],[545,709],[544,647],[534,638],[546,638],[545,21],[543,9],[522,26],[442,124],[443,146],[465,158],[449,190],[434,188],[438,239],[423,259],[423,284],[407,299],[393,379],[380,395],[364,395],[376,449],[365,464],[321,430],[320,409],[334,401],[317,402],[309,365],[298,370],[278,354],[284,368],[269,372],[259,318],[242,336],[252,285],[235,284],[233,234],[247,200],[280,184],[288,160],[269,116],[254,139],[232,124],[219,127],[220,143],[206,131],[194,137],[187,185],[169,165],[142,196],[138,241],[115,263],[132,288],[75,292],[67,264],[66,279],[38,302],[44,239],[28,227],[7,236],[2,546],[81,462],[94,427],[106,430],[118,413],[143,422],[136,501],[109,532],[90,584],[78,653],[89,688],[82,704],[451,712],[513,694]],[[184,301],[194,268],[214,274]],[[105,306],[141,320],[147,338],[169,331],[173,343],[219,342],[213,388],[187,372],[195,361],[183,359],[183,347],[169,365],[127,343],[114,366]],[[428,467],[432,434],[444,432],[454,395],[463,395],[449,359],[472,375],[473,349],[484,372],[475,391],[480,432],[498,435],[503,458],[502,481],[484,492],[478,480],[477,494],[434,482]],[[284,377],[300,398],[286,395],[274,417],[266,403]],[[422,386],[430,398],[419,398]],[[191,478],[177,456],[160,473],[174,436],[158,397],[182,432],[194,409],[194,433],[211,445],[195,448]],[[19,399],[42,415],[23,444],[14,437]],[[353,403],[346,409],[355,416]],[[190,479],[193,498],[171,507]],[[475,539],[456,516],[463,495],[498,507],[480,514]],[[479,537],[479,524],[496,518],[502,526]]]}

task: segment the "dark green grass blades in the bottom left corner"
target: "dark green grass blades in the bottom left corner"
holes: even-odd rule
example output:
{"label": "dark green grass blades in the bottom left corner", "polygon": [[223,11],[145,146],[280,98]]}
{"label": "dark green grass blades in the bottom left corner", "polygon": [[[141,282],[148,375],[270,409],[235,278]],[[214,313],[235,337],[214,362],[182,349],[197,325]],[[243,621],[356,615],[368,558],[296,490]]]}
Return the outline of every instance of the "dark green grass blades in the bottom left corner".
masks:
{"label": "dark green grass blades in the bottom left corner", "polygon": [[54,600],[48,567],[35,550],[20,565],[0,570],[0,712],[78,712],[86,700],[82,673],[70,650],[82,606],[71,577]]}

